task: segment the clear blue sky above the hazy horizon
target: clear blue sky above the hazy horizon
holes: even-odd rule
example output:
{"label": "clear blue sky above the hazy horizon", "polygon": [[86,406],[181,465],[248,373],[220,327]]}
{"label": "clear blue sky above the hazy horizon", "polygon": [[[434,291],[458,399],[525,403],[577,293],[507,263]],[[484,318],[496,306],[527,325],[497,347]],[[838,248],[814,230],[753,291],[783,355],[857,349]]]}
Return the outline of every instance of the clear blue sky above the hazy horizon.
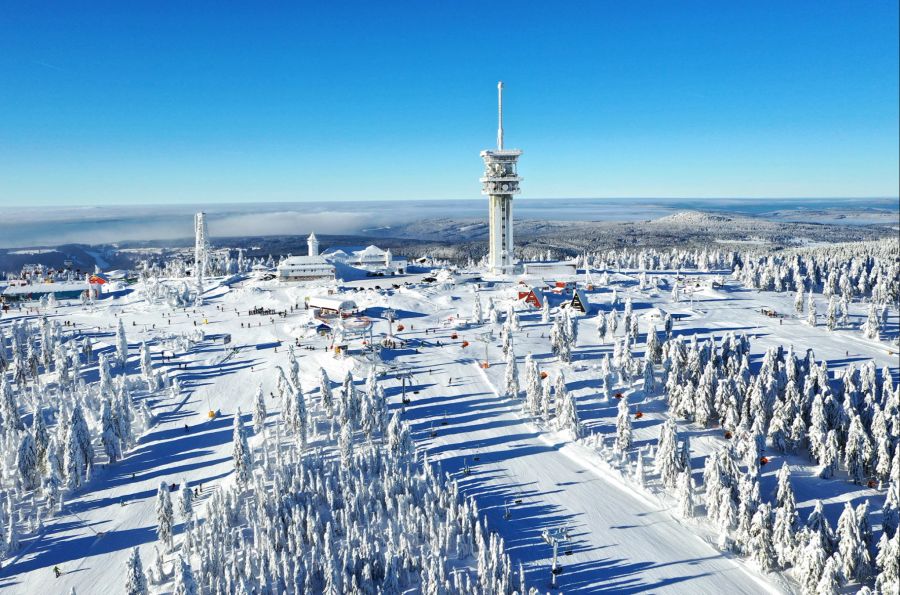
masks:
{"label": "clear blue sky above the hazy horizon", "polygon": [[0,204],[898,195],[898,3],[0,4]]}

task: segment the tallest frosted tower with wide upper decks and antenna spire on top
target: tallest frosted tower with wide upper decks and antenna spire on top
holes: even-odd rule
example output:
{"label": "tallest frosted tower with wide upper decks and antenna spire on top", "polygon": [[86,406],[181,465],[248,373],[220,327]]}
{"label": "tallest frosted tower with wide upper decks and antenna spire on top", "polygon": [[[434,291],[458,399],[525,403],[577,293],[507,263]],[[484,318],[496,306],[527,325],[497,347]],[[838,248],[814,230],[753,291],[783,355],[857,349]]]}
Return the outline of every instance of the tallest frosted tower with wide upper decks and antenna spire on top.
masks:
{"label": "tallest frosted tower with wide upper decks and antenna spire on top", "polygon": [[488,196],[488,271],[506,274],[513,271],[512,199],[522,181],[516,165],[522,151],[503,148],[503,82],[497,83],[497,150],[484,150],[484,176],[481,193]]}

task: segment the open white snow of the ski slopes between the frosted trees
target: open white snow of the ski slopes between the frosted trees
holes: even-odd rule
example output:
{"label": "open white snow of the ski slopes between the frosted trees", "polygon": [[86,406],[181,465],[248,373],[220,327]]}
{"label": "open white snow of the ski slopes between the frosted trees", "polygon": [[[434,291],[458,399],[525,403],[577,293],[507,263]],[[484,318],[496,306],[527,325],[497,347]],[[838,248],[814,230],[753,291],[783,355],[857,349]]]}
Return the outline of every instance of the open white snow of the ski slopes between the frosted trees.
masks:
{"label": "open white snow of the ski slopes between the frosted trees", "polygon": [[[636,283],[624,281],[627,276],[621,279],[615,284],[620,299],[631,297],[639,316],[654,307],[664,308],[677,319],[676,334],[721,337],[729,331],[746,333],[756,357],[771,345],[793,344],[800,354],[813,348],[816,359],[827,361],[831,371],[872,359],[879,369],[890,367],[896,377],[897,356],[890,353],[887,343],[864,339],[858,330],[828,332],[792,316],[782,320],[760,313],[763,307],[792,312],[788,294],[757,292],[729,283],[719,290],[698,290],[693,300],[672,303],[668,292],[640,290]],[[567,431],[544,427],[522,412],[520,401],[501,397],[504,366],[499,338],[487,346],[491,366],[483,369],[480,365],[485,345],[477,337],[490,323],[458,331],[447,324],[451,317],[468,317],[473,307],[474,283],[465,282],[464,276],[457,280],[455,285],[437,289],[396,291],[376,291],[372,289],[376,283],[366,280],[349,283],[344,291],[370,316],[378,317],[388,307],[397,312],[404,329],[396,334],[407,344],[383,354],[389,364],[383,383],[390,406],[403,407],[400,400],[405,390],[411,402],[403,417],[412,424],[418,449],[457,478],[464,494],[477,499],[489,527],[506,540],[513,561],[525,565],[529,584],[541,591],[549,589],[552,548],[542,538],[542,532],[549,530],[568,534],[560,545],[562,572],[557,575],[558,588],[565,592],[796,590],[790,577],[762,573],[748,560],[719,551],[714,546],[714,532],[704,520],[681,519],[673,502],[655,493],[658,490],[652,485],[642,488],[624,477],[604,449],[591,446],[589,440],[574,441]],[[359,291],[353,292],[354,286]],[[62,512],[45,520],[42,532],[23,535],[18,553],[3,562],[0,589],[28,594],[67,593],[73,587],[82,594],[118,592],[133,546],[140,547],[144,565],[149,566],[157,541],[154,507],[159,482],[202,484],[200,504],[196,505],[201,514],[203,500],[230,481],[231,416],[238,408],[244,413],[251,410],[258,384],[266,395],[274,391],[274,367],[286,366],[287,345],[295,339],[299,338],[303,347],[313,348],[296,352],[306,390],[314,387],[320,366],[335,380],[348,369],[358,381],[365,378],[363,359],[352,355],[335,358],[327,349],[329,340],[308,330],[309,313],[302,308],[303,298],[318,293],[315,287],[245,280],[211,286],[201,307],[172,310],[142,300],[138,286],[124,297],[100,301],[91,309],[71,305],[49,312],[91,336],[97,342],[95,350],[112,346],[115,324],[121,318],[132,357],[140,342],[148,342],[154,364],[179,378],[184,390],[177,397],[156,400],[153,413],[157,424],[137,446],[122,461],[98,467],[91,480],[67,499]],[[498,282],[483,288],[479,295],[482,300],[493,297],[505,311],[506,302],[515,300],[516,289],[514,283]],[[608,310],[610,296],[608,287],[588,294],[595,312]],[[286,310],[291,305],[301,307],[285,318],[247,315],[257,306]],[[600,396],[596,372],[599,358],[611,353],[612,346],[599,343],[596,317],[589,314],[580,319],[573,361],[562,364],[549,353],[550,324],[542,323],[536,310],[521,304],[517,308],[522,329],[515,335],[515,351],[520,360],[533,354],[551,378],[557,369],[565,368],[568,389],[576,396],[587,431],[614,434],[616,404]],[[819,312],[824,311],[821,303]],[[854,305],[852,315],[857,321],[864,318],[864,307]],[[9,324],[13,317],[0,318],[0,324]],[[642,335],[647,321],[641,319]],[[661,330],[661,321],[655,324]],[[895,312],[890,324],[896,329]],[[161,338],[194,328],[205,332],[204,341],[186,353],[163,357],[169,354]],[[386,330],[386,322],[376,322],[377,335]],[[231,335],[228,346],[222,344],[224,334]],[[464,340],[469,342],[467,347],[462,346]],[[351,352],[359,350],[361,340],[352,341],[350,347]],[[643,343],[636,347],[642,349]],[[85,373],[96,379],[94,368]],[[397,368],[410,374],[405,388]],[[633,388],[622,386],[621,390],[632,392]],[[274,415],[277,401],[267,398],[267,405],[270,416]],[[210,410],[221,411],[220,417],[210,420]],[[659,424],[667,416],[659,396],[646,398],[643,410],[644,416],[634,424],[637,445],[655,442]],[[702,458],[722,443],[721,432],[691,424],[682,424],[682,428],[693,437],[694,469],[699,472]],[[781,466],[780,455],[772,454],[771,459],[763,470],[761,491],[766,497]],[[832,525],[845,500],[858,503],[869,498],[873,510],[883,501],[884,493],[878,489],[852,485],[840,477],[816,478],[803,456],[791,457],[790,462],[795,465],[794,488],[801,519],[806,518],[815,498],[825,501]],[[60,578],[54,577],[54,566],[63,571]],[[157,587],[160,592],[170,588]]]}

